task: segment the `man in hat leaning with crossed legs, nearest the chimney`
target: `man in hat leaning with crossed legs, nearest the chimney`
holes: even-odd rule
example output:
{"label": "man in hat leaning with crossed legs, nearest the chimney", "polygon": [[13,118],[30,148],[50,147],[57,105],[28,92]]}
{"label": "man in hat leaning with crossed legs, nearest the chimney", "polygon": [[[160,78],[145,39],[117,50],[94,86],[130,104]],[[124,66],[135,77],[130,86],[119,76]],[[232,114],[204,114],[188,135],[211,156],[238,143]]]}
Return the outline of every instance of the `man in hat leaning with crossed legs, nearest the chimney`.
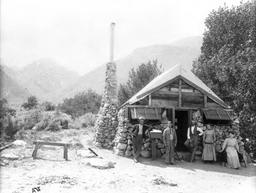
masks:
{"label": "man in hat leaning with crossed legs, nearest the chimney", "polygon": [[145,118],[139,118],[139,124],[135,125],[132,131],[133,137],[133,150],[134,150],[134,161],[137,163],[140,157],[140,151],[143,144],[143,138],[146,138],[148,131],[151,131],[152,128],[149,128],[147,125],[144,125]]}

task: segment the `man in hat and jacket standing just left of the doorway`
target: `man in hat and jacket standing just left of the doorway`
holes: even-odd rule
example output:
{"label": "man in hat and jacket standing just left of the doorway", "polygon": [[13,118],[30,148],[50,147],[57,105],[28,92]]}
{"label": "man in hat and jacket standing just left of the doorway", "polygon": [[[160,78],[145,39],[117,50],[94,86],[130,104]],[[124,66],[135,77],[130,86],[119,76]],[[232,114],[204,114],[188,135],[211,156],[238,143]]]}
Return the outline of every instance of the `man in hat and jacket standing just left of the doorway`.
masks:
{"label": "man in hat and jacket standing just left of the doorway", "polygon": [[172,122],[168,122],[168,127],[163,131],[163,143],[166,147],[165,150],[165,164],[174,164],[174,148],[177,144],[177,135],[175,130],[172,128]]}

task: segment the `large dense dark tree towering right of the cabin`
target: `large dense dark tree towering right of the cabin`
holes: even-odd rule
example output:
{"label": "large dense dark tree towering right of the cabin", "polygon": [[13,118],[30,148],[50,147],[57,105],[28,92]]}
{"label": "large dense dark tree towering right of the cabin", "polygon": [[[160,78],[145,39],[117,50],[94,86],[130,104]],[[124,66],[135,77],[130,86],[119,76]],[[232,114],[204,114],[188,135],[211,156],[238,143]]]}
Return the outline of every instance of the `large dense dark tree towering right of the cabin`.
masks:
{"label": "large dense dark tree towering right of the cabin", "polygon": [[256,3],[220,7],[205,25],[202,54],[193,71],[238,113],[250,150],[256,139]]}

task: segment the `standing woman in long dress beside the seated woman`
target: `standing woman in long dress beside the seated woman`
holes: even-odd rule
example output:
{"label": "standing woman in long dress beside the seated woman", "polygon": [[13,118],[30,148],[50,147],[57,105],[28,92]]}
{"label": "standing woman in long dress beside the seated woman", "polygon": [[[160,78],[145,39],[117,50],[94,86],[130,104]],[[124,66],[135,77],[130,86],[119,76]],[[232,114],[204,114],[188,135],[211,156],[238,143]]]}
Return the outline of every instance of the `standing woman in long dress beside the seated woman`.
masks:
{"label": "standing woman in long dress beside the seated woman", "polygon": [[206,125],[207,130],[204,132],[203,135],[203,145],[204,150],[202,154],[202,160],[205,161],[216,161],[216,154],[215,154],[215,131],[212,129],[210,125]]}

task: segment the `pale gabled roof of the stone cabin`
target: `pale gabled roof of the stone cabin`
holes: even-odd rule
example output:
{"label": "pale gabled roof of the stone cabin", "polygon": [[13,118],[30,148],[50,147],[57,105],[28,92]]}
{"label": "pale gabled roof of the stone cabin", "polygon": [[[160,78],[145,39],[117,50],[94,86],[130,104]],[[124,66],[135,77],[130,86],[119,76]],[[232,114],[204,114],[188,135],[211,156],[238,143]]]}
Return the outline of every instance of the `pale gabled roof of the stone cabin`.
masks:
{"label": "pale gabled roof of the stone cabin", "polygon": [[153,79],[150,83],[148,83],[144,88],[142,88],[138,93],[132,96],[131,99],[126,101],[120,107],[126,104],[134,104],[137,101],[144,99],[150,93],[160,89],[161,87],[167,86],[168,84],[172,83],[173,81],[181,78],[184,82],[188,83],[193,87],[198,86],[201,88],[199,91],[204,92],[209,98],[216,101],[220,105],[224,107],[228,107],[220,98],[217,96],[209,87],[207,87],[199,78],[194,75],[188,68],[182,66],[181,64],[177,64],[174,67],[164,71],[161,75],[157,76]]}

